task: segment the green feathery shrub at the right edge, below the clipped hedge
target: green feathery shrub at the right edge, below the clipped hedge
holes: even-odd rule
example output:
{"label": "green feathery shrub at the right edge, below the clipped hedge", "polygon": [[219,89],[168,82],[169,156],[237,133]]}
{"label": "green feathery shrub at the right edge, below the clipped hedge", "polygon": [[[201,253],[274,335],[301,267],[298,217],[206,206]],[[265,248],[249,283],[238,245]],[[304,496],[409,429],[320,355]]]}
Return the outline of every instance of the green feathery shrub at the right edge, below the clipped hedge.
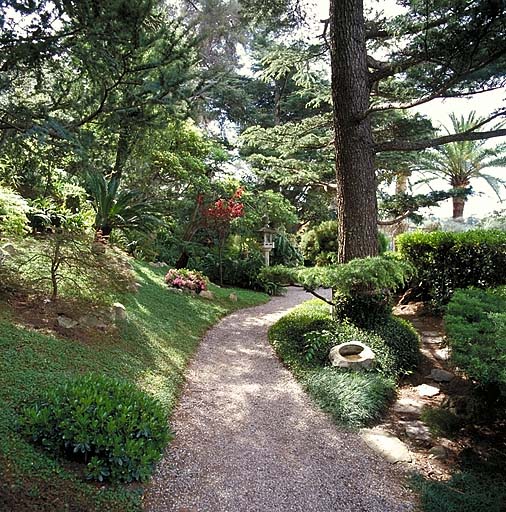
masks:
{"label": "green feathery shrub at the right edge, below the clipped hedge", "polygon": [[497,391],[506,397],[505,311],[504,290],[471,288],[455,292],[445,315],[453,363],[486,387],[491,401]]}

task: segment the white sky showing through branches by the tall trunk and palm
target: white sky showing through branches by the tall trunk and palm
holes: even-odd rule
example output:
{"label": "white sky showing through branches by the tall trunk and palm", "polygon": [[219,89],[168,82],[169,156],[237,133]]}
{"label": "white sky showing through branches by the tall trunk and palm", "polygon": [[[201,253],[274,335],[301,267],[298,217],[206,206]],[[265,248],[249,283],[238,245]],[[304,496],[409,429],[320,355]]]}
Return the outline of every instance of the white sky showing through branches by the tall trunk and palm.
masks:
{"label": "white sky showing through branches by the tall trunk and palm", "polygon": [[[371,7],[376,10],[382,10],[386,16],[394,16],[402,14],[403,8],[398,6],[395,0],[364,0],[365,7]],[[309,12],[313,14],[315,19],[315,28],[319,30],[319,20],[328,18],[329,2],[328,0],[308,0],[308,5],[312,5]],[[321,28],[321,25],[320,25]],[[449,114],[454,112],[458,116],[467,116],[471,111],[475,110],[478,115],[486,116],[497,109],[506,101],[506,91],[497,90],[488,93],[482,93],[470,98],[451,98],[446,100],[433,100],[424,105],[412,109],[412,112],[424,114],[432,120],[435,127],[441,127],[449,124]],[[506,142],[506,137],[492,139],[489,145]],[[488,171],[487,171],[488,172]],[[489,172],[497,177],[506,179],[506,168],[494,169]],[[441,188],[444,184],[441,183]],[[438,187],[437,182],[433,183],[433,187]],[[475,194],[471,196],[465,207],[465,216],[483,217],[487,213],[495,210],[506,208],[506,189],[503,192],[504,203],[498,201],[494,192],[488,188],[484,180],[477,180],[473,184]],[[419,188],[417,193],[423,193],[426,189]],[[438,217],[451,217],[452,207],[451,201],[445,201],[439,208],[432,208],[431,213]]]}

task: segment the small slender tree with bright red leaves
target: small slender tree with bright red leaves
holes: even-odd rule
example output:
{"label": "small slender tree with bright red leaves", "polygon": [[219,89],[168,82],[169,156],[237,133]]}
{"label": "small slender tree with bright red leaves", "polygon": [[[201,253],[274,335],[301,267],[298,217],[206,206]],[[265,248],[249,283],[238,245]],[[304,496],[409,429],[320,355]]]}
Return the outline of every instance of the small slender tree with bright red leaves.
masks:
{"label": "small slender tree with bright red leaves", "polygon": [[244,204],[240,202],[243,188],[238,188],[229,199],[218,199],[211,206],[203,206],[203,198],[199,196],[204,224],[216,234],[218,240],[218,261],[220,271],[220,285],[223,284],[223,250],[230,234],[230,225],[234,219],[244,215]]}

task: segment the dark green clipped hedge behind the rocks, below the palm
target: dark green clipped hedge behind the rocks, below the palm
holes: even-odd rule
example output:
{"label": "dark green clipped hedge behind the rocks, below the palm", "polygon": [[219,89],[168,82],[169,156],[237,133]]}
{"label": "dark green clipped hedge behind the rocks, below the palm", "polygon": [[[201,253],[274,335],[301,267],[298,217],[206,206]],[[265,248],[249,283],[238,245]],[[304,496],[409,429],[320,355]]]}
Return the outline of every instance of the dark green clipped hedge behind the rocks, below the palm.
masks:
{"label": "dark green clipped hedge behind the rocks, below the palm", "polygon": [[457,288],[506,284],[506,233],[472,230],[404,233],[397,248],[416,271],[413,286],[424,299],[446,304]]}

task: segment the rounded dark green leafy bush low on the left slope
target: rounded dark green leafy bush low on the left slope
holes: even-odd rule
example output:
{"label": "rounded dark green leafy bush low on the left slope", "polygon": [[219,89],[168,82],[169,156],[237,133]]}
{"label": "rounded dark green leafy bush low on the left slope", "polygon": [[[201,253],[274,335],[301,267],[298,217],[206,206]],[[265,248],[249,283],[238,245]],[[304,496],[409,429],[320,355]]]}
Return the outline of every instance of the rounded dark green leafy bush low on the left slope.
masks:
{"label": "rounded dark green leafy bush low on the left slope", "polygon": [[87,477],[146,480],[169,440],[159,403],[133,384],[86,375],[23,411],[21,429],[45,449],[86,463]]}

